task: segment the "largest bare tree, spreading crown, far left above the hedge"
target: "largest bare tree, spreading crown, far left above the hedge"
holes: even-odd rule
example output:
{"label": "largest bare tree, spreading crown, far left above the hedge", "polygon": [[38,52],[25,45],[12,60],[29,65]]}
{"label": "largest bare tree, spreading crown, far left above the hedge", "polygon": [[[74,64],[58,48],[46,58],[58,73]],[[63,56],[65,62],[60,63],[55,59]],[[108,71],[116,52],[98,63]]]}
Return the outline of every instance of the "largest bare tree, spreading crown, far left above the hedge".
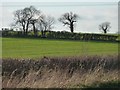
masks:
{"label": "largest bare tree, spreading crown, far left above the hedge", "polygon": [[[28,34],[29,25],[35,25],[35,20],[40,16],[40,11],[30,6],[14,12],[15,24],[22,26],[24,34]],[[34,30],[35,28],[33,28]],[[35,30],[34,30],[35,31]]]}

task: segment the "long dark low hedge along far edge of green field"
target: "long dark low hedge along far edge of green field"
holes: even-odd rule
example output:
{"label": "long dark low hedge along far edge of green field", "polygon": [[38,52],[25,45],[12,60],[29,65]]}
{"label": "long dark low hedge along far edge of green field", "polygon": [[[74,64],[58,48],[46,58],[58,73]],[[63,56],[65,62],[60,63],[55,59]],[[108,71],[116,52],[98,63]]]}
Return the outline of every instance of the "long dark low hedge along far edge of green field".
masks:
{"label": "long dark low hedge along far edge of green field", "polygon": [[[11,31],[4,30],[2,31],[3,37],[34,37],[32,31],[28,32],[28,35],[24,35],[21,31]],[[39,38],[42,38],[40,32],[38,32]],[[48,39],[67,39],[67,40],[84,40],[84,41],[110,41],[110,42],[119,42],[117,35],[105,35],[105,34],[89,34],[89,33],[71,33],[66,31],[48,31],[44,38]]]}

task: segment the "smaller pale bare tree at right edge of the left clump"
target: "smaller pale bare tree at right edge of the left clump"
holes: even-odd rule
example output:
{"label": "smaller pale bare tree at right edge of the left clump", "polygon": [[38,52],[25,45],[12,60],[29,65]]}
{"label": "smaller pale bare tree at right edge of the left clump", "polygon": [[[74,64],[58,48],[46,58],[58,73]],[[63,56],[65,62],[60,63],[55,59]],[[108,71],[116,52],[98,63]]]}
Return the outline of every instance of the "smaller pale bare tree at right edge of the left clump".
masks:
{"label": "smaller pale bare tree at right edge of the left clump", "polygon": [[54,28],[53,24],[55,23],[54,17],[43,15],[39,19],[39,27],[42,33],[42,37],[46,36],[46,32]]}

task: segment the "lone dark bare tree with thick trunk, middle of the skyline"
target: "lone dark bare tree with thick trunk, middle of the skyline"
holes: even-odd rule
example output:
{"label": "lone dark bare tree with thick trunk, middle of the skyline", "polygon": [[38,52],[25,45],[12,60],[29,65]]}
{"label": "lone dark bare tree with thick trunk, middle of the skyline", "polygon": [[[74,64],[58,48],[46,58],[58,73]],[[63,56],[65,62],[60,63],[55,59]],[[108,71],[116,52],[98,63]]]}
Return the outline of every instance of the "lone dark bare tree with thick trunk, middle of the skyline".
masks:
{"label": "lone dark bare tree with thick trunk, middle of the skyline", "polygon": [[72,12],[63,14],[58,20],[70,28],[70,31],[74,32],[74,23],[77,22],[78,15]]}

